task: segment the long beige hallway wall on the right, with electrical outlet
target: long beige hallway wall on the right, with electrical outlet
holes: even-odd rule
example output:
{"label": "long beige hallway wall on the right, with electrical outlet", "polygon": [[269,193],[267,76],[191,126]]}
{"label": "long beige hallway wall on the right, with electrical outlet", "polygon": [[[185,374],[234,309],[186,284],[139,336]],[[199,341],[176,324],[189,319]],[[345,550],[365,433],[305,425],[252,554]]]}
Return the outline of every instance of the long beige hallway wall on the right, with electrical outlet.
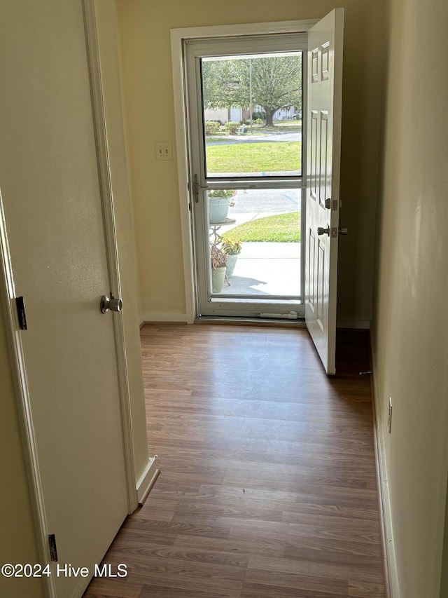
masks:
{"label": "long beige hallway wall on the right, with electrical outlet", "polygon": [[373,344],[402,598],[436,598],[440,589],[448,470],[447,23],[446,0],[391,0]]}

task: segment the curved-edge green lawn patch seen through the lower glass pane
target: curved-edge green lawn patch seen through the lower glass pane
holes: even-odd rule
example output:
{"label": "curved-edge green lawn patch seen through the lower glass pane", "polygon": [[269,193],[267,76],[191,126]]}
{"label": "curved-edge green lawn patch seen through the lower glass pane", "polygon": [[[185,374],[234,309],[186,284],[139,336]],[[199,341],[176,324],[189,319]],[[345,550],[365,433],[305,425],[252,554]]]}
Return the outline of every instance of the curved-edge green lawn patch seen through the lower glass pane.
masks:
{"label": "curved-edge green lawn patch seen through the lower glass pane", "polygon": [[270,243],[300,242],[300,212],[256,218],[235,226],[223,238],[240,243],[258,241]]}

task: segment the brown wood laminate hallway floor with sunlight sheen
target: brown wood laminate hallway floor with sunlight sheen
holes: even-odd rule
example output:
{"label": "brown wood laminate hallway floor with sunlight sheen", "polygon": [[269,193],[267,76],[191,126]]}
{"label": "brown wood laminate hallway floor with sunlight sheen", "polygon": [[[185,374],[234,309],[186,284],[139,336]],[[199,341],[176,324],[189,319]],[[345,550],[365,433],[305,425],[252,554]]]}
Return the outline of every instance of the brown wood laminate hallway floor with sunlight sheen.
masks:
{"label": "brown wood laminate hallway floor with sunlight sheen", "polygon": [[161,475],[85,598],[384,598],[368,339],[325,376],[304,329],[146,325]]}

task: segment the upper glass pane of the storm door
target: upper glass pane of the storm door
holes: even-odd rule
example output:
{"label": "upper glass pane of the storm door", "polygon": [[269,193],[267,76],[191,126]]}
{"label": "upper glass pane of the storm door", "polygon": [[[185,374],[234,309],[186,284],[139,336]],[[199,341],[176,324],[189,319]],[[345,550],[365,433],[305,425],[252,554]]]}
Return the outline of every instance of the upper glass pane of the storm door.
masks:
{"label": "upper glass pane of the storm door", "polygon": [[201,64],[205,176],[302,175],[302,52]]}

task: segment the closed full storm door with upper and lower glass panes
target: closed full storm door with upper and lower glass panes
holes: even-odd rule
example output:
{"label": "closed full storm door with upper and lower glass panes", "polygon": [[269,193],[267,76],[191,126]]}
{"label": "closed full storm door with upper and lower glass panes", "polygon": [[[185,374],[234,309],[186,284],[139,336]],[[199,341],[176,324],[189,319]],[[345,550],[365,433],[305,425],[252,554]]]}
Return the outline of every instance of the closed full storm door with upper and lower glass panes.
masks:
{"label": "closed full storm door with upper and lower glass panes", "polygon": [[304,315],[306,34],[186,43],[197,315]]}

